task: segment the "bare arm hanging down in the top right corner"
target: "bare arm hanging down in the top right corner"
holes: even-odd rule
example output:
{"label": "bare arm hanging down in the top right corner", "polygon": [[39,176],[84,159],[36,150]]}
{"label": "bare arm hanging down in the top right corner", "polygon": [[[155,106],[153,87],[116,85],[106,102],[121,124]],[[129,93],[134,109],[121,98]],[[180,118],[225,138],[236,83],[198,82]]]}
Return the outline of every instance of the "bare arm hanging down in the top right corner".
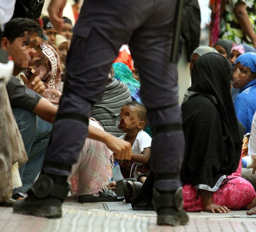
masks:
{"label": "bare arm hanging down in the top right corner", "polygon": [[244,34],[251,39],[253,42],[253,47],[256,48],[256,34],[253,31],[253,27],[250,23],[245,3],[238,3],[234,8],[234,13],[236,14],[236,18],[244,31]]}

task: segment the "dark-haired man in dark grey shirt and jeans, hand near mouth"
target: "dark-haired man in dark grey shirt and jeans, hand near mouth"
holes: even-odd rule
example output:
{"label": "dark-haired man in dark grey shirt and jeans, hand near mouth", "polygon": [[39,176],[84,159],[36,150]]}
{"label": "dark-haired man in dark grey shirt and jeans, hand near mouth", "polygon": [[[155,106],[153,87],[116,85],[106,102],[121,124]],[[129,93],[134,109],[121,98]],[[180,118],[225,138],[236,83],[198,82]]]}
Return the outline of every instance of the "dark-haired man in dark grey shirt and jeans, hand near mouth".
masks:
{"label": "dark-haired man in dark grey shirt and jeans, hand near mouth", "polygon": [[[23,186],[13,191],[15,198],[26,194],[41,170],[52,130],[51,123],[54,122],[58,110],[40,95],[44,92],[45,86],[35,66],[41,64],[42,38],[43,33],[38,23],[21,18],[6,23],[1,37],[1,48],[14,60],[14,76],[6,88],[29,158],[29,161],[20,167]],[[32,73],[27,86],[21,85],[15,78],[20,71],[25,70]],[[20,195],[17,195],[18,192]]]}

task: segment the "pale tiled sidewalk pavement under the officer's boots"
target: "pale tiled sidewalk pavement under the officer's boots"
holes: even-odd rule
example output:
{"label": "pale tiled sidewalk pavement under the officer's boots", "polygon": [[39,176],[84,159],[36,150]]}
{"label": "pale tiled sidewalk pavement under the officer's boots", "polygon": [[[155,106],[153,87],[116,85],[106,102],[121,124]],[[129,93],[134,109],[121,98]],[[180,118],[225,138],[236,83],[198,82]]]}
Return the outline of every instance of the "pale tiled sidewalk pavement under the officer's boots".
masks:
{"label": "pale tiled sidewalk pavement under the officer's boots", "polygon": [[247,216],[245,210],[190,212],[189,224],[176,227],[157,226],[154,211],[133,211],[125,201],[81,204],[69,200],[62,211],[62,218],[47,219],[0,207],[0,232],[256,232],[256,215]]}

